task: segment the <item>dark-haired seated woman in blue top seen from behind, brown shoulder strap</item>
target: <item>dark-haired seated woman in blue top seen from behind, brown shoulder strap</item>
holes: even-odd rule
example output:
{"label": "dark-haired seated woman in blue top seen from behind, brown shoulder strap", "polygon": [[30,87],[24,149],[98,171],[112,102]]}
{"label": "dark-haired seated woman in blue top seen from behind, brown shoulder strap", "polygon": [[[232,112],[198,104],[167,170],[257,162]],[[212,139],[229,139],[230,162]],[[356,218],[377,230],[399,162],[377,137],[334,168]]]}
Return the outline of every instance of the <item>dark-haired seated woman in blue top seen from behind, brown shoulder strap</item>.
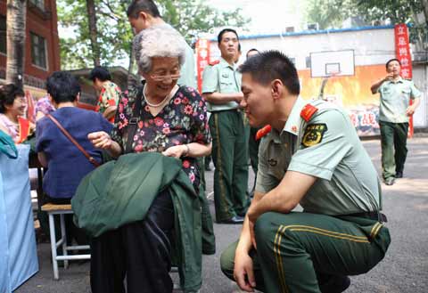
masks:
{"label": "dark-haired seated woman in blue top seen from behind, brown shoulder strap", "polygon": [[[67,72],[54,72],[46,81],[47,94],[53,106],[53,118],[98,162],[102,160],[102,151],[96,150],[87,139],[87,134],[96,131],[111,131],[111,124],[103,115],[94,111],[76,107],[80,85],[75,77]],[[70,204],[82,178],[95,169],[84,154],[62,134],[53,121],[44,117],[37,121],[36,130],[37,157],[47,171],[43,180],[45,202]],[[75,238],[84,243],[86,237],[72,224],[72,215],[66,216],[68,240]]]}

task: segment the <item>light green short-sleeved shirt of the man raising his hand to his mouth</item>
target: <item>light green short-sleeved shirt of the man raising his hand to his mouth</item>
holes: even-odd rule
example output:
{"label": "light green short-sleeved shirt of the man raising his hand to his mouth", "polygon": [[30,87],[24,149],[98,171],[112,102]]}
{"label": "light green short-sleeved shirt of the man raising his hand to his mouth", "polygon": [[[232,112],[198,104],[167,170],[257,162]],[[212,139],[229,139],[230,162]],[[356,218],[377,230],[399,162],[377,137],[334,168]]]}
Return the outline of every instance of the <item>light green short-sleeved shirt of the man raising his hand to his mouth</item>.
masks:
{"label": "light green short-sleeved shirt of the man raising his hand to his mouth", "polygon": [[410,99],[415,100],[421,96],[411,80],[399,77],[397,81],[384,81],[377,90],[381,94],[381,107],[379,121],[392,123],[407,123],[407,107]]}

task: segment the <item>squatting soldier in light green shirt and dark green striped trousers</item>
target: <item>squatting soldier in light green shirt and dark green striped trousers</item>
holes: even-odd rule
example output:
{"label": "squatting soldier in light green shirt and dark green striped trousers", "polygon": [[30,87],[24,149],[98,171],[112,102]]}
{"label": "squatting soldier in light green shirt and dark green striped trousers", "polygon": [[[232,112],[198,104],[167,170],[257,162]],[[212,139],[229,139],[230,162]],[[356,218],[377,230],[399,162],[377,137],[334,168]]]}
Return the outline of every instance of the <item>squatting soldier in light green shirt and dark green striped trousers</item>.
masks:
{"label": "squatting soldier in light green shirt and dark green striped trousers", "polygon": [[[342,292],[390,244],[380,183],[348,115],[305,102],[284,54],[247,60],[243,102],[251,126],[272,126],[259,147],[254,199],[223,273],[246,291]],[[303,212],[292,212],[298,204]]]}

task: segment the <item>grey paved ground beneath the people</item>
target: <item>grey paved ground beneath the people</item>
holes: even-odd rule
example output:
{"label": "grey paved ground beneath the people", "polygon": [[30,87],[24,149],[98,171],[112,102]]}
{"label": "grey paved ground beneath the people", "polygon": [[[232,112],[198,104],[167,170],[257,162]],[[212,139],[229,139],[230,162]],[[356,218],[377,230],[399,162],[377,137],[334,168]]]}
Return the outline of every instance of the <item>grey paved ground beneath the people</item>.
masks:
{"label": "grey paved ground beneath the people", "polygon": [[[424,135],[426,136],[426,135]],[[380,142],[363,142],[380,171]],[[211,166],[212,167],[212,166]],[[252,172],[249,185],[252,186]],[[388,216],[391,246],[383,262],[365,275],[351,278],[349,293],[424,293],[428,291],[428,137],[408,141],[405,177],[392,186],[383,184],[383,211]],[[212,191],[213,172],[207,173],[208,193]],[[214,203],[210,201],[211,213]],[[215,224],[217,253],[203,257],[202,293],[239,292],[220,272],[219,257],[235,241],[239,225]],[[89,265],[71,264],[60,269],[60,280],[53,281],[49,244],[38,245],[40,271],[16,293],[86,293]],[[177,273],[175,274],[177,275]],[[177,278],[177,276],[174,276]]]}

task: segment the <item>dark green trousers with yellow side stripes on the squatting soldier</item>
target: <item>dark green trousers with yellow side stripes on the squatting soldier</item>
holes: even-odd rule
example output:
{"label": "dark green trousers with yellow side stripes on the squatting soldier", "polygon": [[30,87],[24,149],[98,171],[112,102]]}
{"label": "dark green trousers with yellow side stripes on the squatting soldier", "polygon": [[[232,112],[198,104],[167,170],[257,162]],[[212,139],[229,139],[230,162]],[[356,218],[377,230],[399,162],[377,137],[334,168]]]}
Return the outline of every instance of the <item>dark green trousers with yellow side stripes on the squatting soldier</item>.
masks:
{"label": "dark green trousers with yellow side stripes on the squatting soldier", "polygon": [[[388,229],[371,219],[299,212],[263,214],[254,232],[257,251],[250,255],[256,285],[268,293],[320,293],[325,276],[368,272],[391,242]],[[236,245],[220,259],[221,270],[232,280]]]}

